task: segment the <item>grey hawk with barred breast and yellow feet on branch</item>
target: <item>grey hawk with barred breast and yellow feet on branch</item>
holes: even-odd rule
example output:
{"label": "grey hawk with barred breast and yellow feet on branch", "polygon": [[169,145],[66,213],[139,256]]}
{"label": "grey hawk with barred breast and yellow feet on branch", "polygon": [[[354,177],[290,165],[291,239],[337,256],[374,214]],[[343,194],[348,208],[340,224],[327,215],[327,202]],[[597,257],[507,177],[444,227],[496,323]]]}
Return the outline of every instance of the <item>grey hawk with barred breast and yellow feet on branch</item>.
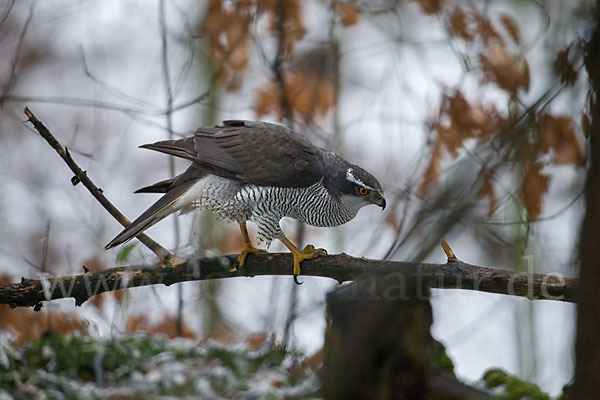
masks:
{"label": "grey hawk with barred breast and yellow feet on branch", "polygon": [[337,226],[350,221],[369,204],[385,208],[381,185],[373,175],[339,155],[317,147],[299,133],[280,125],[224,121],[200,128],[192,137],[141,146],[192,162],[175,178],[144,187],[136,193],[165,193],[119,233],[106,249],[128,241],[176,211],[207,209],[239,224],[244,265],[252,246],[246,221],[257,225],[259,242],[279,239],[294,256],[294,275],[300,263],[323,249],[298,249],[285,237],[279,221],[292,217],[314,226]]}

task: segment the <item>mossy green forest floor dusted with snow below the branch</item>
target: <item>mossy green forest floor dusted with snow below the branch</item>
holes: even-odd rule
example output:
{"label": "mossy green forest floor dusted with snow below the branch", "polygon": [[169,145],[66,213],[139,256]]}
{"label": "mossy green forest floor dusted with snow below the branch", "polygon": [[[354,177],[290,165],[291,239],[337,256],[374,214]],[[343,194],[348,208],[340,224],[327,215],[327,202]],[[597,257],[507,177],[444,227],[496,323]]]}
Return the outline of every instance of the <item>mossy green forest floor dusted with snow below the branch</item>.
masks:
{"label": "mossy green forest floor dusted with snow below the branch", "polygon": [[[434,368],[454,376],[452,361],[436,346]],[[308,356],[264,335],[224,345],[141,333],[49,333],[0,347],[0,400],[321,398],[321,367],[322,351]],[[487,371],[476,386],[497,399],[550,400],[500,370]]]}

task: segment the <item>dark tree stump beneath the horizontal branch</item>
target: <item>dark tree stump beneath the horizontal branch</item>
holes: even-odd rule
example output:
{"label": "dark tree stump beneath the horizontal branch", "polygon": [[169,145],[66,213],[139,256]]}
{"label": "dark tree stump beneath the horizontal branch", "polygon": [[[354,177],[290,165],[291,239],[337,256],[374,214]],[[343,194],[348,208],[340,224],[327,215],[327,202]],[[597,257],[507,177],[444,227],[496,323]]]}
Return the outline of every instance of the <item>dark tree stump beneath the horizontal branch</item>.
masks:
{"label": "dark tree stump beneath the horizontal branch", "polygon": [[489,400],[434,367],[426,282],[366,273],[327,296],[325,399]]}

